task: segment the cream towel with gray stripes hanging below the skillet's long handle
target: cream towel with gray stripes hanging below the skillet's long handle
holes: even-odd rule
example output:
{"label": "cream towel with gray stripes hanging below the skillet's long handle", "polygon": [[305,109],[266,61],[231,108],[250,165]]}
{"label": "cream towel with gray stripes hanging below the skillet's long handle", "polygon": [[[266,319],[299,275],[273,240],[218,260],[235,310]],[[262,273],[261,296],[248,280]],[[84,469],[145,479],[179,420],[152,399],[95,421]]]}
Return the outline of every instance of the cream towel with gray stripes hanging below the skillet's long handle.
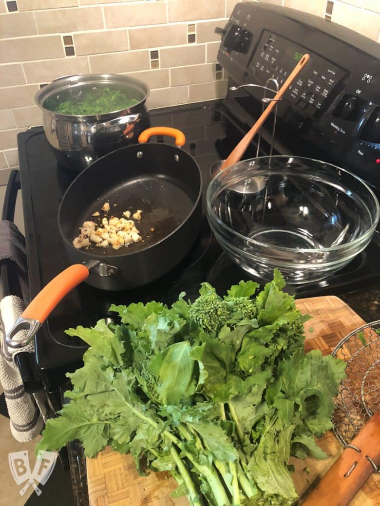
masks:
{"label": "cream towel with gray stripes hanging below the skillet's long handle", "polygon": [[[21,374],[14,358],[20,352],[33,352],[34,342],[20,349],[9,348],[5,343],[5,332],[9,330],[25,309],[24,302],[16,296],[5,297],[0,302],[0,383],[2,384],[10,416],[13,437],[19,442],[31,441],[42,430],[46,418],[46,399],[41,393],[27,394]],[[17,338],[26,334],[20,330]]]}

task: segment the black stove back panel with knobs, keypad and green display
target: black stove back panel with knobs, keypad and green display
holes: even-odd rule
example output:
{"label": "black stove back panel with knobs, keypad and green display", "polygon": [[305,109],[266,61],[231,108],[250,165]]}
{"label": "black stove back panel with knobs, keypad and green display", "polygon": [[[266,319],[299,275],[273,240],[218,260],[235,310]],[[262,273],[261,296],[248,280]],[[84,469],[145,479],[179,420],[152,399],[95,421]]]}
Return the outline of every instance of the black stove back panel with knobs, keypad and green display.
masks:
{"label": "black stove back panel with knobs, keypad and green display", "polygon": [[[273,89],[268,79],[281,87],[310,54],[278,104],[277,150],[345,167],[380,194],[380,45],[317,16],[255,2],[236,4],[219,33],[229,87]],[[262,97],[260,88],[228,89],[225,104],[250,127]]]}

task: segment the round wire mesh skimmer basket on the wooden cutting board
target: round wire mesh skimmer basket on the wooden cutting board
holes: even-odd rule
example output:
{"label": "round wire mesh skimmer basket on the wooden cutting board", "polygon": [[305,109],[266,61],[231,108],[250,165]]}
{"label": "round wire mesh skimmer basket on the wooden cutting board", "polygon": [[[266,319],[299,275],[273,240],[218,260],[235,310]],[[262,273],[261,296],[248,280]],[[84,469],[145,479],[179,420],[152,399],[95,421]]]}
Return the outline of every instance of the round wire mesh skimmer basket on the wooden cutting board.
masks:
{"label": "round wire mesh skimmer basket on the wooden cutting board", "polygon": [[332,419],[336,437],[346,446],[380,409],[380,320],[350,332],[331,355],[347,362]]}

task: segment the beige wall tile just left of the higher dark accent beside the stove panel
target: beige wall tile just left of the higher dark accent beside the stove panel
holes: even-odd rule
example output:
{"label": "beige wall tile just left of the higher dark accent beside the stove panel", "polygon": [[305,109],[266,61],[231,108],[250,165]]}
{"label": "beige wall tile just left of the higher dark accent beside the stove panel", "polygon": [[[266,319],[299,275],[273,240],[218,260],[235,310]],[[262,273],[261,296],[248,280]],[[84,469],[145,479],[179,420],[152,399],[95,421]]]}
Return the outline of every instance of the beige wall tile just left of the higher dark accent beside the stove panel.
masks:
{"label": "beige wall tile just left of the higher dark accent beside the stove panel", "polygon": [[160,48],[162,46],[186,44],[186,30],[185,24],[130,28],[128,33],[131,49]]}

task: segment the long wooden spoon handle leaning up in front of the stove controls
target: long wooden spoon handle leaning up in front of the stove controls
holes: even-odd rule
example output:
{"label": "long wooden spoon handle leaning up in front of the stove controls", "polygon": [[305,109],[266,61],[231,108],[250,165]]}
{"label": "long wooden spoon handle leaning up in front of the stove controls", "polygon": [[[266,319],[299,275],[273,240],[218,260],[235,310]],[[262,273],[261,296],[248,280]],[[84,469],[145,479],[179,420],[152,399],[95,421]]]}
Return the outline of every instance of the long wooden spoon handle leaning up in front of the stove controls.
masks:
{"label": "long wooden spoon handle leaning up in front of the stove controls", "polygon": [[304,55],[301,60],[298,62],[298,64],[294,67],[292,72],[290,73],[289,77],[286,79],[286,81],[283,83],[282,87],[277,92],[276,96],[273,98],[273,100],[269,103],[269,105],[264,110],[263,114],[259,117],[259,119],[256,121],[254,126],[245,134],[245,136],[241,139],[239,144],[236,146],[236,148],[228,155],[228,158],[221,166],[220,170],[223,171],[224,168],[229,167],[230,165],[233,165],[234,163],[237,163],[240,158],[243,156],[245,150],[249,146],[251,140],[255,137],[255,135],[260,130],[261,126],[263,125],[264,121],[267,119],[269,114],[272,112],[273,107],[275,107],[277,101],[282,98],[286,90],[289,88],[293,80],[298,76],[298,74],[301,72],[301,70],[305,67],[307,62],[310,59],[310,55],[306,54]]}

